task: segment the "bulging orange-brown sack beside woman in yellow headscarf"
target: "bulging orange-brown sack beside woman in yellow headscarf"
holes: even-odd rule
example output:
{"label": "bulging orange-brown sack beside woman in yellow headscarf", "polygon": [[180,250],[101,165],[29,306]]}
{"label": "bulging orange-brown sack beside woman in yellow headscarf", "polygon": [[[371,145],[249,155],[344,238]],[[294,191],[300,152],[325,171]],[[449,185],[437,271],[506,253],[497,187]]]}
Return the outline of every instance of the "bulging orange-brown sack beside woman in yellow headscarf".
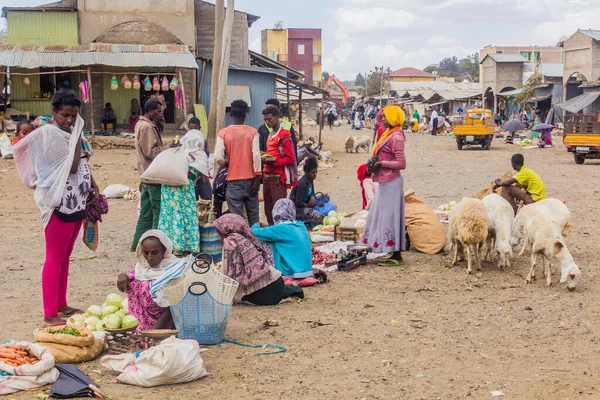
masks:
{"label": "bulging orange-brown sack beside woman in yellow headscarf", "polygon": [[411,245],[425,254],[437,254],[446,247],[447,235],[431,207],[414,192],[404,197],[406,231]]}

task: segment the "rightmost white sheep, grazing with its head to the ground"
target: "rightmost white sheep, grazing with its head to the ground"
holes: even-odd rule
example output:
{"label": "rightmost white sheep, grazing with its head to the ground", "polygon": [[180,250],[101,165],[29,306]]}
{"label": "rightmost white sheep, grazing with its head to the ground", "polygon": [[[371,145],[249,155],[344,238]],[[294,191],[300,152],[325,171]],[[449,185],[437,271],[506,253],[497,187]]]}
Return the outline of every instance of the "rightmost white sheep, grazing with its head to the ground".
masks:
{"label": "rightmost white sheep, grazing with its head to the ground", "polygon": [[524,246],[531,245],[531,269],[526,282],[535,280],[535,267],[541,258],[542,271],[546,277],[546,285],[552,285],[551,262],[557,257],[561,266],[560,283],[566,283],[569,291],[575,290],[581,277],[581,271],[563,238],[560,225],[556,223],[555,215],[546,207],[535,207],[529,212],[523,227]]}

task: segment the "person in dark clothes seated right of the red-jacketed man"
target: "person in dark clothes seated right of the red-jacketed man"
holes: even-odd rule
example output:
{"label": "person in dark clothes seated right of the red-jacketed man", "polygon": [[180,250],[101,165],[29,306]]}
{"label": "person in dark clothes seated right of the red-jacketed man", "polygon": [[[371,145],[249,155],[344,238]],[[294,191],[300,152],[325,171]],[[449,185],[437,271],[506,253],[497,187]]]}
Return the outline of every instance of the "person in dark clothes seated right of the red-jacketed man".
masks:
{"label": "person in dark clothes seated right of the red-jacketed man", "polygon": [[314,157],[309,157],[304,163],[304,176],[298,180],[298,186],[292,188],[290,200],[296,207],[296,218],[308,225],[321,225],[325,216],[315,210],[314,206],[322,206],[323,203],[315,201],[315,179],[319,163]]}

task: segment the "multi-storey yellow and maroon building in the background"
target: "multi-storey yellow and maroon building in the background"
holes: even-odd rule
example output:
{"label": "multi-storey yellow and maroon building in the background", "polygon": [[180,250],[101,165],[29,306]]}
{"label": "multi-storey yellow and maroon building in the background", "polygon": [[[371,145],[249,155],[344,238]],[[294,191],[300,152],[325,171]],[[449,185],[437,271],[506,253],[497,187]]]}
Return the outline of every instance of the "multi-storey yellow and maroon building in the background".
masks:
{"label": "multi-storey yellow and maroon building in the background", "polygon": [[279,23],[262,31],[261,53],[304,74],[304,83],[321,85],[321,29],[284,29]]}

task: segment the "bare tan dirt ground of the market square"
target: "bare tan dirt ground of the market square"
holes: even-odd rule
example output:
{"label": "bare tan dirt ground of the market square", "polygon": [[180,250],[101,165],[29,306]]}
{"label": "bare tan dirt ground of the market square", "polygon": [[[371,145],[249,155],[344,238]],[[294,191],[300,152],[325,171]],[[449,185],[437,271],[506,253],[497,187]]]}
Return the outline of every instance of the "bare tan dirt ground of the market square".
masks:
{"label": "bare tan dirt ground of the market square", "polygon": [[[360,207],[356,168],[368,157],[344,152],[350,132],[345,124],[324,131],[337,164],[316,182],[346,212]],[[566,200],[573,214],[568,244],[582,270],[577,290],[548,288],[541,280],[525,284],[527,257],[516,257],[504,271],[485,264],[468,276],[464,265],[450,267],[446,254],[408,252],[403,267],[332,273],[330,283],[306,289],[299,303],[233,308],[228,338],[282,345],[283,354],[208,347],[202,356],[209,377],[153,390],[110,383],[114,375],[98,362],[83,370],[114,399],[482,399],[492,391],[511,399],[600,398],[599,162],[576,165],[560,139],[553,149],[521,150],[496,140],[490,151],[458,151],[453,138],[410,134],[406,151],[405,190],[433,208],[475,194],[508,171],[510,156],[521,151],[549,196]],[[44,239],[33,192],[12,164],[0,161],[0,340],[30,340],[42,322]],[[101,188],[137,185],[133,151],[97,151],[93,165]],[[134,202],[110,202],[100,227],[99,252],[106,258],[71,264],[71,305],[100,304],[116,291],[117,275],[134,265],[128,249],[135,221]],[[73,255],[90,252],[78,243]],[[554,265],[555,277],[558,272]],[[261,328],[266,320],[278,326]]]}

